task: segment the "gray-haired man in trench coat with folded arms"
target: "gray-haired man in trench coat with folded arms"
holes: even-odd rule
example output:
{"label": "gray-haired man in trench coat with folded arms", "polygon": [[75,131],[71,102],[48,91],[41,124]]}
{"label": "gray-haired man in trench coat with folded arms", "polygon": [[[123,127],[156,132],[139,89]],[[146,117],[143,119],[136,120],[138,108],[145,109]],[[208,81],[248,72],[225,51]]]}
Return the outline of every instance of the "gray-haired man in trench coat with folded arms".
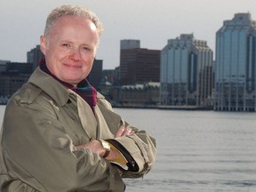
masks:
{"label": "gray-haired man in trench coat with folded arms", "polygon": [[0,191],[124,191],[155,163],[156,141],[115,114],[87,82],[100,20],[63,5],[41,36],[45,60],[4,113]]}

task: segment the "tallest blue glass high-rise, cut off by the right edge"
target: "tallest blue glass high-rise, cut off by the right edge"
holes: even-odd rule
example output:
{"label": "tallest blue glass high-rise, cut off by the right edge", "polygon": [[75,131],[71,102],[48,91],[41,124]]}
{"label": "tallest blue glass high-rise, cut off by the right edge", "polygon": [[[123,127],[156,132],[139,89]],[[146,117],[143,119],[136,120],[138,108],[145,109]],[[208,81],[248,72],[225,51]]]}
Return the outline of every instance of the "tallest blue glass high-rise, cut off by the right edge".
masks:
{"label": "tallest blue glass high-rise, cut off by the right edge", "polygon": [[255,111],[256,21],[236,13],[216,33],[214,110]]}

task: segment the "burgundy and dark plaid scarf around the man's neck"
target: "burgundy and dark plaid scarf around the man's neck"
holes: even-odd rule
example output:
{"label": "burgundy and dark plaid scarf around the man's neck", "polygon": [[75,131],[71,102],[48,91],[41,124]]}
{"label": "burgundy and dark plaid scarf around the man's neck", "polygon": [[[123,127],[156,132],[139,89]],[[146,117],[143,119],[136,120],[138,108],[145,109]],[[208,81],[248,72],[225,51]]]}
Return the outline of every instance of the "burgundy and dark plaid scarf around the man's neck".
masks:
{"label": "burgundy and dark plaid scarf around the man's neck", "polygon": [[78,95],[80,95],[92,108],[92,112],[94,113],[94,108],[97,104],[97,91],[96,89],[87,81],[87,79],[84,79],[81,81],[77,86],[73,86],[72,84],[68,84],[66,82],[61,81],[56,76],[54,76],[49,69],[46,67],[45,59],[40,60],[40,68],[53,78],[55,78],[57,81],[60,82],[60,84],[63,84],[64,86],[68,87],[68,89],[71,89],[72,91],[76,92]]}

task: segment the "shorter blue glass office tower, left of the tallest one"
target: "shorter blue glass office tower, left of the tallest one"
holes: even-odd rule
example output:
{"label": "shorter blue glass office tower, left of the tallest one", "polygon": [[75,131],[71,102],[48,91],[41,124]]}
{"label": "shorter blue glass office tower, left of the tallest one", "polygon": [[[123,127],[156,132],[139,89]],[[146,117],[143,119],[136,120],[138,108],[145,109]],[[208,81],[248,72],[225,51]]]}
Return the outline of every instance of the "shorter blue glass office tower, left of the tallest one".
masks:
{"label": "shorter blue glass office tower, left of the tallest one", "polygon": [[212,50],[206,41],[183,34],[161,52],[160,105],[211,106]]}

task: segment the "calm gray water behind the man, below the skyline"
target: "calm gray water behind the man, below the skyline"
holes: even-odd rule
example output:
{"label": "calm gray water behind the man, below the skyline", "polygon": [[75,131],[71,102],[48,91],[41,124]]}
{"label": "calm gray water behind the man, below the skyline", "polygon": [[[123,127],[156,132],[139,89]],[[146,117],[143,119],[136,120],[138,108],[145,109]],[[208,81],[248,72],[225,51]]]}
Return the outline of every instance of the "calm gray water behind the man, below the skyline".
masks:
{"label": "calm gray water behind the man, below the skyline", "polygon": [[[255,113],[115,108],[157,141],[154,169],[128,192],[255,192]],[[0,124],[4,107],[0,106]]]}

